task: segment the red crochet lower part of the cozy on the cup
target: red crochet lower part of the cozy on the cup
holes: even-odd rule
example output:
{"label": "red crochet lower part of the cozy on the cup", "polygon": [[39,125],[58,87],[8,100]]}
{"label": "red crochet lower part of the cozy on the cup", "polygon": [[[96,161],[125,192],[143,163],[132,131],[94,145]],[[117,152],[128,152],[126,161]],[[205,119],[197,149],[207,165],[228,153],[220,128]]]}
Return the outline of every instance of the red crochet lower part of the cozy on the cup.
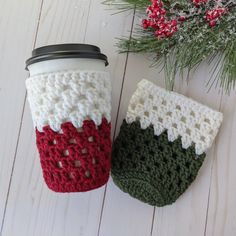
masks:
{"label": "red crochet lower part of the cozy on the cup", "polygon": [[61,132],[49,126],[36,129],[43,176],[56,192],[84,192],[104,185],[109,178],[111,125],[103,118],[100,126],[86,120],[82,128],[61,125]]}

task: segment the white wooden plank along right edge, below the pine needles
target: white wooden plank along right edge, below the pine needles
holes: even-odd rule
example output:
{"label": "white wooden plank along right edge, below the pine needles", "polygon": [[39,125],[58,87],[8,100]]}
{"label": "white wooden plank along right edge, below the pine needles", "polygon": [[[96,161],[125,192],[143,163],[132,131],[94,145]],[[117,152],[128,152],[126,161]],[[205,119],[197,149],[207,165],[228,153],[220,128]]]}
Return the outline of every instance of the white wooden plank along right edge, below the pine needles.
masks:
{"label": "white wooden plank along right edge, below the pine needles", "polygon": [[206,234],[209,236],[234,236],[236,234],[236,92],[225,95],[221,111],[224,122],[216,143],[210,204]]}

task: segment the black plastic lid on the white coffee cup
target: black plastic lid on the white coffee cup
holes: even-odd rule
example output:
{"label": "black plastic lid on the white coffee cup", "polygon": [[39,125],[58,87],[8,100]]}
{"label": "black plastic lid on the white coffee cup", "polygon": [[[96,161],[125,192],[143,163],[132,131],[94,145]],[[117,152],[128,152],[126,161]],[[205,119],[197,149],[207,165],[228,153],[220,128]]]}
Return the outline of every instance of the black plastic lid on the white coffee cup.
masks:
{"label": "black plastic lid on the white coffee cup", "polygon": [[97,46],[89,44],[54,44],[34,49],[32,57],[26,61],[26,70],[33,63],[62,58],[100,59],[105,62],[105,66],[108,65],[107,56],[102,54]]}

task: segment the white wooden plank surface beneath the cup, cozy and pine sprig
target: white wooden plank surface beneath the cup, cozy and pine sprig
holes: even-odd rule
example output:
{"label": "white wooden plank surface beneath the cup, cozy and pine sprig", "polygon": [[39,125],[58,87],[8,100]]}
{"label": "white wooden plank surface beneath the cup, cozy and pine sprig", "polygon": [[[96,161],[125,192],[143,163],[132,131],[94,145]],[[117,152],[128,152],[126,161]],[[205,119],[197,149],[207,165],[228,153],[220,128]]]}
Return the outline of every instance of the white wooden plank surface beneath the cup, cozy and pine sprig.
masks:
{"label": "white wooden plank surface beneath the cup, cozy and pine sprig", "polygon": [[220,133],[196,181],[173,205],[154,208],[107,187],[56,194],[43,183],[28,103],[24,61],[32,48],[90,43],[108,56],[113,83],[112,133],[142,78],[163,74],[142,55],[119,55],[115,37],[129,36],[133,14],[111,16],[99,0],[0,1],[0,236],[235,236],[236,94],[206,92],[209,68],[175,90],[224,113]]}

